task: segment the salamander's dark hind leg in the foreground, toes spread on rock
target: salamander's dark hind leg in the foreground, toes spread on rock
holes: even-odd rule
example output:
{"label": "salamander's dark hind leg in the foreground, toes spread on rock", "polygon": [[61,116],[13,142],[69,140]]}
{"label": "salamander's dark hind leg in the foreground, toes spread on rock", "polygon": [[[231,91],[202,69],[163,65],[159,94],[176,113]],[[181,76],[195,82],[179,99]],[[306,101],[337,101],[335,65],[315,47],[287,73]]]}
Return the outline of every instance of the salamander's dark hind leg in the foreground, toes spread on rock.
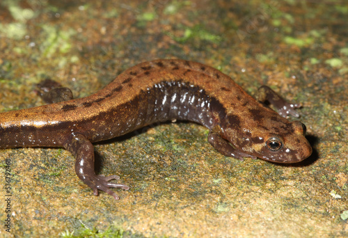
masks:
{"label": "salamander's dark hind leg in the foreground, toes spread on rock", "polygon": [[94,149],[92,143],[82,134],[71,134],[65,141],[64,148],[69,150],[76,158],[75,172],[80,180],[87,184],[95,196],[98,189],[109,193],[116,200],[120,199],[116,193],[109,188],[120,188],[128,190],[125,184],[113,184],[109,180],[118,180],[120,177],[111,175],[96,175],[94,170]]}

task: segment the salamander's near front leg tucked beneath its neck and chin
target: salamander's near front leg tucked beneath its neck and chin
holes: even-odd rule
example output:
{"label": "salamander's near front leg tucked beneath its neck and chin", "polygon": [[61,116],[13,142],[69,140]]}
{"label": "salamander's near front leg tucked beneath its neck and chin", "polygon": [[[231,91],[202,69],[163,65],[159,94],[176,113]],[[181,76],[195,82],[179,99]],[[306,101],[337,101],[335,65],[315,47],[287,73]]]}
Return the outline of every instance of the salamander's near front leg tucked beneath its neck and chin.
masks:
{"label": "salamander's near front leg tucked beneath its neck and chin", "polygon": [[228,141],[221,137],[221,127],[219,126],[215,126],[210,130],[208,134],[208,141],[216,150],[218,150],[223,155],[235,157],[236,159],[239,159],[241,161],[244,160],[243,157],[251,157],[253,159],[256,159],[256,157],[253,155],[246,154],[240,150],[237,150],[236,148],[233,148]]}

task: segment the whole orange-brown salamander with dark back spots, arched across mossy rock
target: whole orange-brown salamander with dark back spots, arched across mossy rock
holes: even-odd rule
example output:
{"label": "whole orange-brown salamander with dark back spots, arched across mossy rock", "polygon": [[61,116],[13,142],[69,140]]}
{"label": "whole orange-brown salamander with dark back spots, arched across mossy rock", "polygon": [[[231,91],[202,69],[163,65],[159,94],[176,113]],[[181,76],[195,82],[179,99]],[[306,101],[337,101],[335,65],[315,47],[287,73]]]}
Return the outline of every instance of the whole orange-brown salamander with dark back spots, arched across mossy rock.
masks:
{"label": "whole orange-brown salamander with dark back spots, arched across mossy rock", "polygon": [[[278,113],[265,102],[272,104]],[[119,197],[129,189],[96,175],[93,144],[167,120],[189,120],[209,129],[207,141],[221,154],[296,163],[312,153],[306,126],[290,122],[299,104],[262,86],[256,100],[230,77],[184,60],[140,63],[88,97],[0,113],[0,148],[61,147],[76,158],[75,171],[95,195]]]}

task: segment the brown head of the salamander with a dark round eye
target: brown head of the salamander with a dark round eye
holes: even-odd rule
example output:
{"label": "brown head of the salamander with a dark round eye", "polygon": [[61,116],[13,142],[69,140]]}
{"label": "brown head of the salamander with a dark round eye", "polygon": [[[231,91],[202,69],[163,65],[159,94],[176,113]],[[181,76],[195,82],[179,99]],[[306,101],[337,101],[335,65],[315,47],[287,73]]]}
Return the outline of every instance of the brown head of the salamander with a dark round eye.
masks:
{"label": "brown head of the salamander with a dark round eye", "polygon": [[[287,122],[277,130],[256,130],[251,138],[251,154],[277,163],[297,163],[312,154],[305,134],[306,126],[299,121]],[[276,133],[274,133],[276,132]],[[255,137],[256,136],[256,137]]]}

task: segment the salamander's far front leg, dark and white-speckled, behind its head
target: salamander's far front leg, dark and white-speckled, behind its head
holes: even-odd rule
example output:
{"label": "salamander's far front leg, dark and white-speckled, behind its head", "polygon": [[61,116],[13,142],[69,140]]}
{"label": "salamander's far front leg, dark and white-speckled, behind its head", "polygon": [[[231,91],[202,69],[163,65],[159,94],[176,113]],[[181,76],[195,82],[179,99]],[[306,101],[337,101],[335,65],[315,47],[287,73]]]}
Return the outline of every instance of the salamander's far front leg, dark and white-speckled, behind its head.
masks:
{"label": "salamander's far front leg, dark and white-speckled, behind its head", "polygon": [[272,104],[278,111],[280,116],[286,118],[286,116],[291,115],[295,118],[299,117],[299,113],[295,111],[296,108],[301,107],[300,104],[292,104],[286,102],[283,97],[280,97],[274,90],[271,90],[268,86],[261,86],[258,89],[258,94],[256,99],[260,102],[268,101]]}

